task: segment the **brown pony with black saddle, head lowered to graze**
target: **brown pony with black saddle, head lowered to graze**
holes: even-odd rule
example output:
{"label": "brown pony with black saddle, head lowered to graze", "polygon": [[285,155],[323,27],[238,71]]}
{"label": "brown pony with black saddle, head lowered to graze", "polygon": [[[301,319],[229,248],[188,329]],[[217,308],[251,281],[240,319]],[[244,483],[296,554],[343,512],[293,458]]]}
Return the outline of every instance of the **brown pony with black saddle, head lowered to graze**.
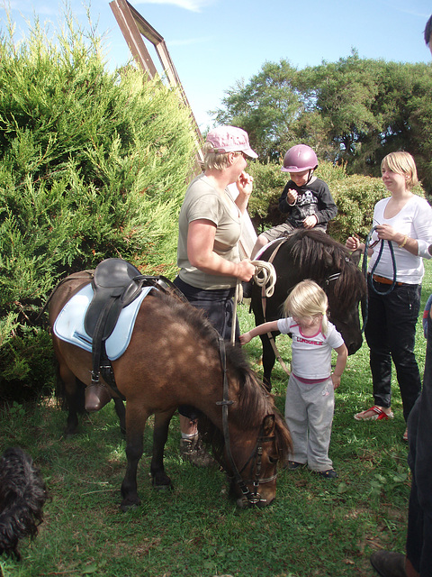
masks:
{"label": "brown pony with black saddle, head lowered to graze", "polygon": [[[90,282],[83,273],[71,275],[51,295],[51,327],[67,301]],[[67,434],[74,432],[72,413],[76,380],[91,381],[92,354],[52,334],[69,400]],[[291,452],[291,437],[239,347],[225,346],[197,309],[173,295],[151,290],[142,301],[126,352],[112,361],[115,383],[126,398],[127,468],[121,484],[121,509],[139,505],[137,467],[143,431],[155,415],[150,473],[157,488],[171,486],[163,454],[168,426],[179,405],[193,405],[206,437],[222,439],[216,457],[229,474],[238,505],[262,507],[275,499],[276,465]],[[112,392],[115,398],[115,393]],[[223,413],[227,418],[224,420]]]}

